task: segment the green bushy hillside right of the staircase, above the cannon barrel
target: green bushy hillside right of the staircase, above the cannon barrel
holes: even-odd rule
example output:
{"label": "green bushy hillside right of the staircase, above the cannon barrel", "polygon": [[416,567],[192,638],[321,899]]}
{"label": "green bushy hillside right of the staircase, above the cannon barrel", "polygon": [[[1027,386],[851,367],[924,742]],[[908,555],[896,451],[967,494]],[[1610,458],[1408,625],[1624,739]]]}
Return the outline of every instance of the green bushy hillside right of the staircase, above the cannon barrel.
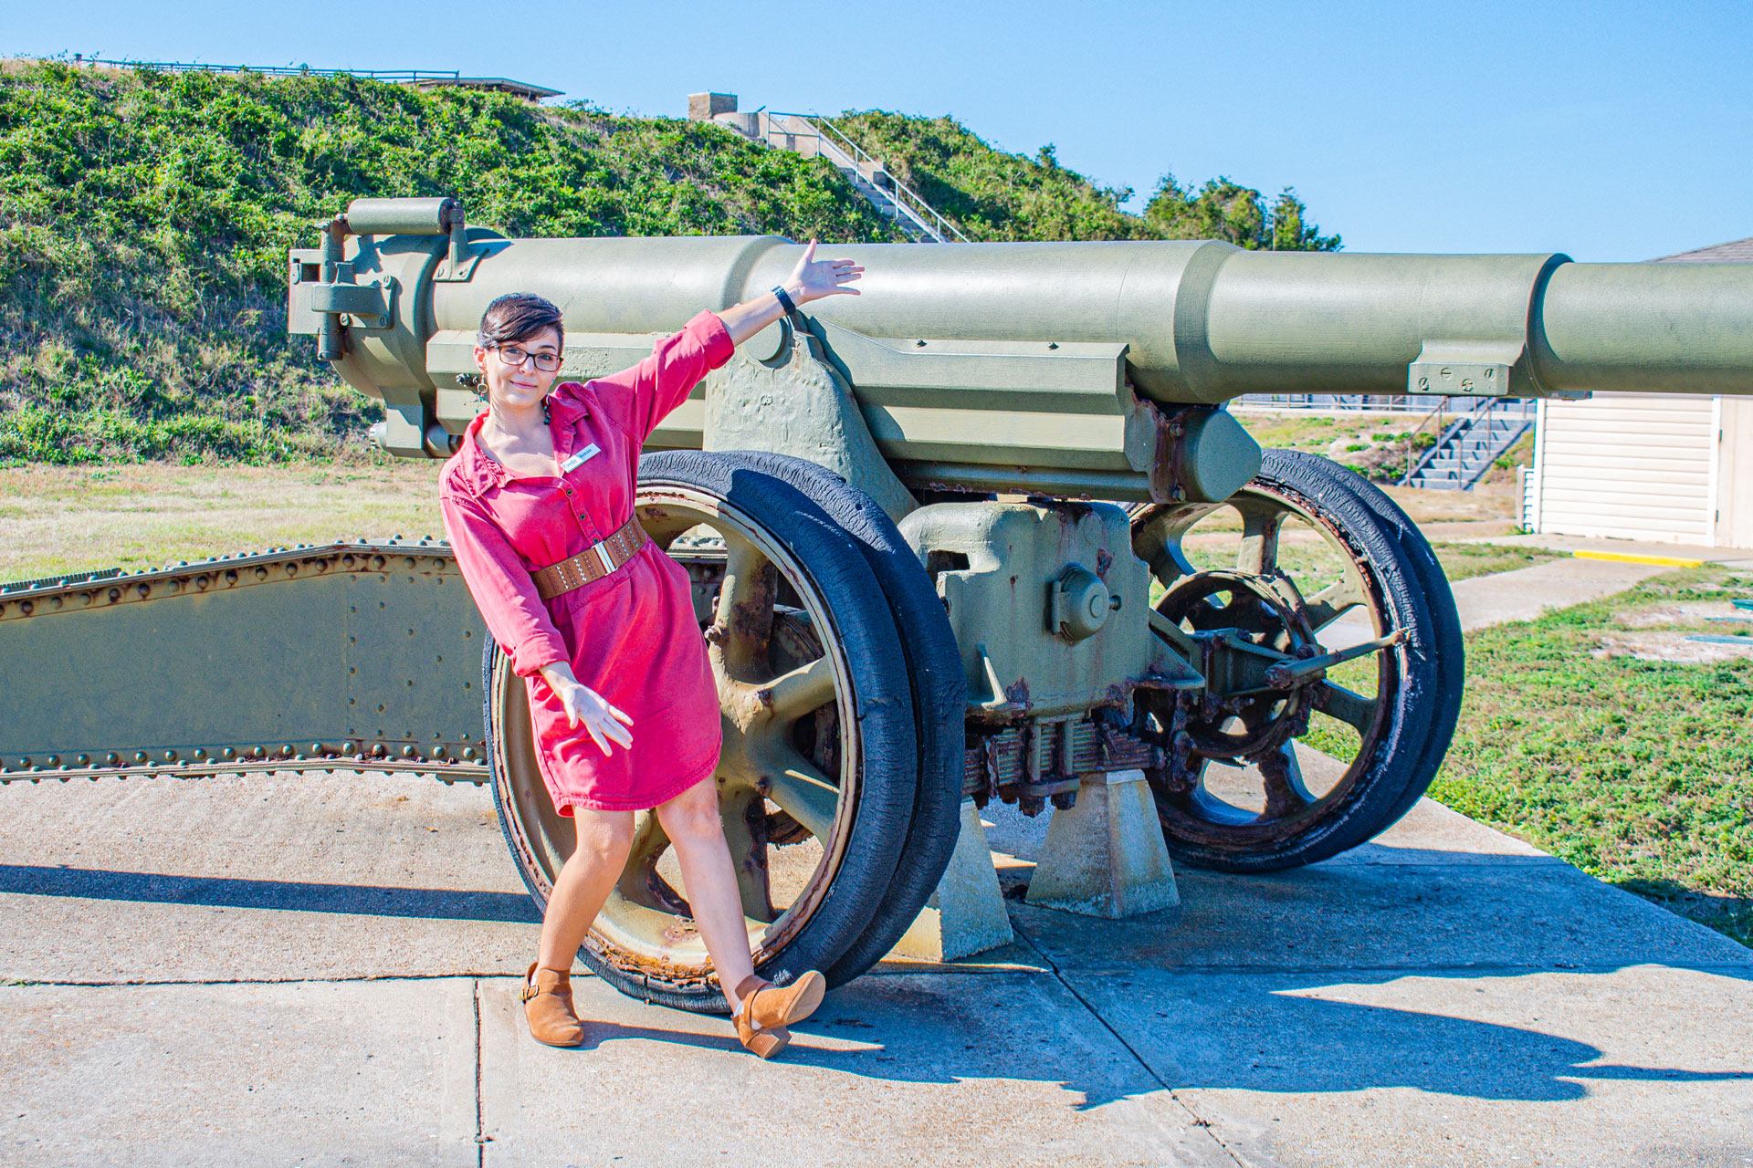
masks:
{"label": "green bushy hillside right of the staircase, above the cannon barrel", "polygon": [[1059,165],[1052,145],[1033,158],[987,145],[952,117],[884,110],[829,119],[871,158],[954,219],[971,240],[1229,240],[1238,247],[1338,250],[1338,235],[1308,222],[1288,187],[1267,200],[1229,179],[1199,189],[1164,175],[1143,214],[1120,210],[1132,191],[1097,186]]}

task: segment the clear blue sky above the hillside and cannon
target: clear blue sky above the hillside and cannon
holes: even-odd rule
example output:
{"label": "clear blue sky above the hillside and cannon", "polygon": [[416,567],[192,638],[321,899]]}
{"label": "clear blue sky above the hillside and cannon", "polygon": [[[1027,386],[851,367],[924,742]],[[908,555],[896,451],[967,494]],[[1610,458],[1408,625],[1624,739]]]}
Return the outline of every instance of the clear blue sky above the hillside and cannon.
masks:
{"label": "clear blue sky above the hillside and cannon", "polygon": [[1294,186],[1348,250],[1648,259],[1753,235],[1753,4],[0,7],[0,53],[508,75],[615,112],[952,114],[1148,196]]}

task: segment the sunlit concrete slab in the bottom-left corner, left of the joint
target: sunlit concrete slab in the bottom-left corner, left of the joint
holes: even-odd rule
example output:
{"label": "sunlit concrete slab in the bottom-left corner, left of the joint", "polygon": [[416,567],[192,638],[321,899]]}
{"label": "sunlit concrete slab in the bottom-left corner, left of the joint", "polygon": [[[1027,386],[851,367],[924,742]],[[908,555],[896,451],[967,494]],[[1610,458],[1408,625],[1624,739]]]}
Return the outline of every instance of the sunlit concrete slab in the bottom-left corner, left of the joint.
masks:
{"label": "sunlit concrete slab in the bottom-left corner, left of the joint", "polygon": [[465,1164],[468,979],[4,986],[0,1163]]}

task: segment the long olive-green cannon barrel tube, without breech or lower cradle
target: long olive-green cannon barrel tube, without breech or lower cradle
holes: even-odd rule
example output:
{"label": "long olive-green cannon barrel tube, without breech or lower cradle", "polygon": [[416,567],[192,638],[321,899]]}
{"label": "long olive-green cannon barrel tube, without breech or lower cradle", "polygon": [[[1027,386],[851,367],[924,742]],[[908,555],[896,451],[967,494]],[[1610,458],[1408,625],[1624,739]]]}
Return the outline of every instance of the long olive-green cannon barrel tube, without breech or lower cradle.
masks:
{"label": "long olive-green cannon barrel tube, without breech or lower cradle", "polygon": [[[657,333],[784,278],[798,247],[757,240],[522,240],[486,284],[435,299],[468,329],[491,294],[531,289],[568,327]],[[1578,264],[1564,256],[1248,252],[1215,242],[834,247],[866,296],[810,313],[866,336],[1127,345],[1164,403],[1241,394],[1462,392],[1413,366],[1509,366],[1537,396],[1753,392],[1753,266]],[[1423,373],[1429,376],[1430,373]],[[1480,387],[1478,383],[1474,389]]]}

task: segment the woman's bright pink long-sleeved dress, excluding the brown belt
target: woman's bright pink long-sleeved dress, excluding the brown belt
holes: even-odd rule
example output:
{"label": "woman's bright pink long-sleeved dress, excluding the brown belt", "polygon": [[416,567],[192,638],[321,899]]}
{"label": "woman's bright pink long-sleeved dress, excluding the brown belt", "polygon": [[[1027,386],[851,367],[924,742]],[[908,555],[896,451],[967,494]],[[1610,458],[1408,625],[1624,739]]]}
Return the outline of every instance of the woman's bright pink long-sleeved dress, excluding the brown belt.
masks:
{"label": "woman's bright pink long-sleeved dress, excluding the brown belt", "polygon": [[[536,760],[561,814],[656,807],[719,765],[719,697],[687,571],[647,543],[619,571],[550,601],[536,595],[531,573],[628,522],[645,438],[733,350],[719,317],[703,312],[631,369],[552,389],[554,457],[559,466],[575,461],[573,469],[512,475],[477,443],[482,413],[438,480],[463,580],[529,686]],[[557,660],[633,718],[631,749],[605,756],[584,727],[568,723],[538,672]]]}

